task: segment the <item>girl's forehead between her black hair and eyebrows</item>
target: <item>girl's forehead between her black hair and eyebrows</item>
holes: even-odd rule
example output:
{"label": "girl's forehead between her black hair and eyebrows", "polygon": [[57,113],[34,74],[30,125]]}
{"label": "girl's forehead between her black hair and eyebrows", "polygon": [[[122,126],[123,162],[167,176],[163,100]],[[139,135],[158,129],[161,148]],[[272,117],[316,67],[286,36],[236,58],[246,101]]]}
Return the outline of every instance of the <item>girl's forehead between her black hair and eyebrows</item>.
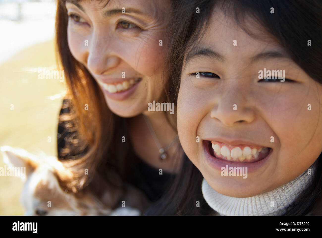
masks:
{"label": "girl's forehead between her black hair and eyebrows", "polygon": [[186,50],[185,62],[196,52],[198,54],[198,50],[208,55],[213,51],[217,54],[213,55],[218,56],[221,61],[236,57],[251,60],[261,52],[275,52],[287,56],[285,49],[276,39],[250,17],[245,16],[243,25],[249,32],[245,32],[233,16],[218,10],[213,12],[209,23],[204,34]]}

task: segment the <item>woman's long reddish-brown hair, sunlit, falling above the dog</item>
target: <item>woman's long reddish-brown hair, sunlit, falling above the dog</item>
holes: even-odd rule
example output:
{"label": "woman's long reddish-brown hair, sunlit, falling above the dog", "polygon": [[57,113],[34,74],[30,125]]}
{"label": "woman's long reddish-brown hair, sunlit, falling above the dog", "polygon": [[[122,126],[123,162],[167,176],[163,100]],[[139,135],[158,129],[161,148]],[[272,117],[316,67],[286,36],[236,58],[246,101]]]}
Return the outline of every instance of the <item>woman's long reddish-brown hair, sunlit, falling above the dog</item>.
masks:
{"label": "woman's long reddish-brown hair, sunlit, falling above the dog", "polygon": [[[74,0],[74,2],[80,2]],[[109,0],[99,0],[102,8]],[[105,3],[105,5],[104,5]],[[169,17],[168,19],[170,19]],[[57,59],[65,71],[67,94],[65,96],[68,112],[59,117],[59,125],[64,128],[58,140],[63,140],[64,148],[60,148],[59,157],[62,163],[72,170],[74,177],[63,180],[61,185],[77,193],[87,186],[101,170],[106,179],[115,186],[121,187],[126,176],[124,163],[126,148],[121,142],[121,130],[124,130],[125,119],[112,113],[108,108],[104,95],[88,70],[72,55],[67,42],[68,15],[65,0],[58,0],[56,12],[56,47]],[[165,35],[165,39],[167,36]],[[166,40],[164,45],[166,45]],[[161,80],[164,80],[163,77]],[[164,93],[160,100],[170,102],[171,91],[175,91],[170,80],[165,79]],[[166,113],[166,112],[165,112]],[[168,114],[167,114],[168,115]],[[176,128],[175,118],[168,118]],[[66,135],[70,136],[66,136]],[[121,145],[120,145],[121,144]],[[123,147],[122,147],[123,146]],[[85,174],[88,169],[88,174]],[[120,179],[117,179],[120,178]]]}

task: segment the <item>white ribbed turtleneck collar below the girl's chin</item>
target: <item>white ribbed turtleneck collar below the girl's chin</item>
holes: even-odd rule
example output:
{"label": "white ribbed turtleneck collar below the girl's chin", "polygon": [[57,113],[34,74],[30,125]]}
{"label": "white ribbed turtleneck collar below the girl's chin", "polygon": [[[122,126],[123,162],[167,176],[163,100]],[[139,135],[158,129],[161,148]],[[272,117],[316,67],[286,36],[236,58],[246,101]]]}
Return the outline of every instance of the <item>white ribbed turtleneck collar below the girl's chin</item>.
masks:
{"label": "white ribbed turtleneck collar below the girl's chin", "polygon": [[[308,186],[313,174],[314,167],[311,169],[311,175],[305,173],[273,191],[247,198],[220,194],[204,179],[202,193],[208,205],[220,215],[281,215],[285,212],[284,208]],[[271,206],[271,201],[274,202],[274,206]]]}

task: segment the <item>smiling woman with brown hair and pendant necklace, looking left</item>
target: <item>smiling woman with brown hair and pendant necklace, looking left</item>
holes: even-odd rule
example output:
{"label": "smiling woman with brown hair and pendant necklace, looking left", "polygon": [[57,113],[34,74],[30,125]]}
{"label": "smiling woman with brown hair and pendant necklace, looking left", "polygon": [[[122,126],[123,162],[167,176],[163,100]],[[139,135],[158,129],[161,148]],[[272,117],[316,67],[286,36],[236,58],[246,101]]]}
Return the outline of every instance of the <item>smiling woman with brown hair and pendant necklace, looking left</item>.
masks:
{"label": "smiling woman with brown hair and pendant necklace, looking left", "polygon": [[[116,187],[133,184],[150,202],[172,183],[182,157],[175,118],[147,109],[153,101],[173,101],[166,32],[177,2],[59,1],[56,38],[68,93],[58,153],[73,171],[66,186],[75,193],[97,187],[96,173]],[[166,160],[158,146],[166,148]]]}

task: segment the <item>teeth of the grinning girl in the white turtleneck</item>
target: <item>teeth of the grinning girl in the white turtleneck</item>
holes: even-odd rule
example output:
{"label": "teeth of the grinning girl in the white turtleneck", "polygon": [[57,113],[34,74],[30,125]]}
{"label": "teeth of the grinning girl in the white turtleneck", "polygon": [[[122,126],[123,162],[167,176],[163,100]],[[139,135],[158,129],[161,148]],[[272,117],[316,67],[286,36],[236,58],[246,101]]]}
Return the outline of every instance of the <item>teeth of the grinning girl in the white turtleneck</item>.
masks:
{"label": "teeth of the grinning girl in the white turtleneck", "polygon": [[269,147],[255,148],[251,145],[224,145],[211,141],[213,151],[216,153],[216,157],[225,160],[233,160],[243,162],[255,162],[268,155]]}

